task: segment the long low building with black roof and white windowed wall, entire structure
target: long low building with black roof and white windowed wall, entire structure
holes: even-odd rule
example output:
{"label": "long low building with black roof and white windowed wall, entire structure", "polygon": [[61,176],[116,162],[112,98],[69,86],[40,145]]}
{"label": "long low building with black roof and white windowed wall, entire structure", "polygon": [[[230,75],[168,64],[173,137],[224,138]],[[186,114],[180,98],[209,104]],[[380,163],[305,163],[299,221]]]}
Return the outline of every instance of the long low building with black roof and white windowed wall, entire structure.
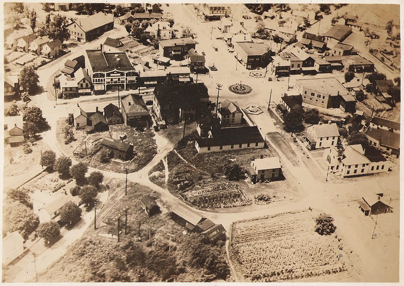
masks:
{"label": "long low building with black roof and white windowed wall, entire structure", "polygon": [[198,153],[239,150],[245,148],[264,148],[265,140],[257,126],[221,128],[211,137],[196,138]]}

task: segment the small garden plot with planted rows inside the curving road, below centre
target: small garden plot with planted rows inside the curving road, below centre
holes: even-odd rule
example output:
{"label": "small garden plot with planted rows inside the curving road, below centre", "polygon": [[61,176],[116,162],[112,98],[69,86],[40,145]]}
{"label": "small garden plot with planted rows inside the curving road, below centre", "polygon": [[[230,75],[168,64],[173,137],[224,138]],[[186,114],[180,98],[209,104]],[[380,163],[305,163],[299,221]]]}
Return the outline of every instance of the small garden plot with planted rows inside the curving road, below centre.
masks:
{"label": "small garden plot with planted rows inside the curving road, below centre", "polygon": [[183,198],[201,208],[229,208],[251,204],[240,185],[234,182],[212,182],[182,193]]}

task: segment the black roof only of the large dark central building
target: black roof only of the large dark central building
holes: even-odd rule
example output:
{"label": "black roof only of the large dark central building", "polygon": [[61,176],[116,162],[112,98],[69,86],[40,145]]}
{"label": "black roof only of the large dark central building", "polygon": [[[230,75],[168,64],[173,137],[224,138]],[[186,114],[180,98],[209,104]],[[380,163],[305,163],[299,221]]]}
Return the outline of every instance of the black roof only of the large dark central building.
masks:
{"label": "black roof only of the large dark central building", "polygon": [[155,96],[160,105],[174,104],[181,108],[196,108],[203,98],[209,98],[204,83],[158,85]]}

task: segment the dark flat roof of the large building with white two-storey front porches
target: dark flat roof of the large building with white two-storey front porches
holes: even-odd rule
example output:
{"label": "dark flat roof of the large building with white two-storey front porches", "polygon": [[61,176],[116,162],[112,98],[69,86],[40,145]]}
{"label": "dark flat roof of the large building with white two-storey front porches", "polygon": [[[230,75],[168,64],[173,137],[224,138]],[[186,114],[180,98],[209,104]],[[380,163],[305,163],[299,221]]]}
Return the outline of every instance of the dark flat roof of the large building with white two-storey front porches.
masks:
{"label": "dark flat roof of the large building with white two-storey front porches", "polygon": [[107,72],[114,69],[134,70],[126,53],[103,53],[100,50],[86,50],[85,52],[93,72]]}

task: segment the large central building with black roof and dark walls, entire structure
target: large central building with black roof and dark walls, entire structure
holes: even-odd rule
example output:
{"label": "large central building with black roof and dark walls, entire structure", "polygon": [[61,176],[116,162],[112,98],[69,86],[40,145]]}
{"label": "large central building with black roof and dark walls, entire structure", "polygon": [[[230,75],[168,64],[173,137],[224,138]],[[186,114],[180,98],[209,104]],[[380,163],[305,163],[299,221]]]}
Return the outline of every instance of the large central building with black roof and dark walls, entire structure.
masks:
{"label": "large central building with black roof and dark walls, entire structure", "polygon": [[208,108],[209,94],[204,83],[158,85],[154,90],[153,110],[159,120],[177,124],[184,118],[197,119]]}

